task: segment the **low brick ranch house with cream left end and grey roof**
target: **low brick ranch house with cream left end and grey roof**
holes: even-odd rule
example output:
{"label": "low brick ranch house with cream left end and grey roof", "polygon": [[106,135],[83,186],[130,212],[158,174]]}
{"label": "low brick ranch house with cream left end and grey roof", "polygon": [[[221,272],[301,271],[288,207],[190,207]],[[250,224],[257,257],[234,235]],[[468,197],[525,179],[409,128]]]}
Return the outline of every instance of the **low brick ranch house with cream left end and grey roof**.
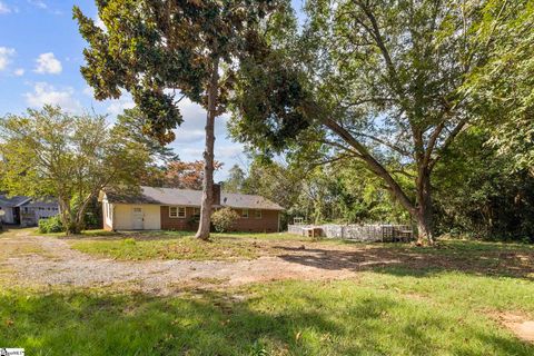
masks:
{"label": "low brick ranch house with cream left end and grey roof", "polygon": [[[106,230],[196,230],[200,190],[141,187],[140,194],[100,191]],[[279,205],[260,196],[221,192],[214,185],[214,208],[230,207],[240,218],[236,231],[275,233],[280,229]]]}

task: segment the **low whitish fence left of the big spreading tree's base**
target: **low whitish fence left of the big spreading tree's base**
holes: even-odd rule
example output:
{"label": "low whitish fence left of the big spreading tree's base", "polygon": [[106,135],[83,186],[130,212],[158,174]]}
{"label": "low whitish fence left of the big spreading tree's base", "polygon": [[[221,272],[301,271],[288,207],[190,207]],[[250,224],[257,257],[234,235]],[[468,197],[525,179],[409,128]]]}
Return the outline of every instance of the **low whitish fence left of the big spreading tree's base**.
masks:
{"label": "low whitish fence left of the big spreading tree's base", "polygon": [[288,225],[289,234],[306,236],[307,229],[318,228],[327,238],[349,239],[363,243],[409,240],[408,225]]}

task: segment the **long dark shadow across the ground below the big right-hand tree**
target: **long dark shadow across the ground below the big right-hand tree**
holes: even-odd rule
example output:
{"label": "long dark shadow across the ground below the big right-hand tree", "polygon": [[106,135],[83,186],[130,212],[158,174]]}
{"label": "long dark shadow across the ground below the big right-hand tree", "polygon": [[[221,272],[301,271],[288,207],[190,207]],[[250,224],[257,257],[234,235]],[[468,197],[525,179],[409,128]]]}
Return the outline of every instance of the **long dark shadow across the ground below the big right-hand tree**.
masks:
{"label": "long dark shadow across the ground below the big right-hand tree", "polygon": [[534,249],[530,246],[452,241],[436,248],[406,245],[368,245],[354,250],[287,246],[276,248],[286,251],[278,256],[286,261],[323,269],[375,270],[416,277],[441,271],[462,271],[534,280]]}

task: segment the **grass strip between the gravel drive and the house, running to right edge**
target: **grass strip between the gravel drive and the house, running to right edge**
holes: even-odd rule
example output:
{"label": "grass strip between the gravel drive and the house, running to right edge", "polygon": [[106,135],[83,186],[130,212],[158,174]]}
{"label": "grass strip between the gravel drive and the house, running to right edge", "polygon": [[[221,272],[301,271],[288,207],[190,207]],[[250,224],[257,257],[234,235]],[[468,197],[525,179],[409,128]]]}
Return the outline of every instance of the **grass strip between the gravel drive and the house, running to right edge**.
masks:
{"label": "grass strip between the gravel drive and the house, running to right edge", "polygon": [[[501,244],[473,240],[442,240],[437,248],[413,247],[407,244],[364,245],[338,239],[312,241],[290,234],[212,234],[211,241],[202,241],[187,231],[146,231],[98,236],[96,233],[68,238],[70,246],[79,251],[118,260],[191,259],[233,260],[251,259],[265,255],[278,255],[280,245],[308,248],[338,248],[349,251],[369,247],[378,255],[407,257],[416,253],[421,258],[442,259],[446,263],[495,267],[506,259],[506,254],[534,254],[534,246],[524,244]],[[344,256],[340,256],[344,257]],[[507,260],[510,263],[510,260]],[[523,260],[517,261],[521,270]],[[513,269],[511,269],[513,274]]]}

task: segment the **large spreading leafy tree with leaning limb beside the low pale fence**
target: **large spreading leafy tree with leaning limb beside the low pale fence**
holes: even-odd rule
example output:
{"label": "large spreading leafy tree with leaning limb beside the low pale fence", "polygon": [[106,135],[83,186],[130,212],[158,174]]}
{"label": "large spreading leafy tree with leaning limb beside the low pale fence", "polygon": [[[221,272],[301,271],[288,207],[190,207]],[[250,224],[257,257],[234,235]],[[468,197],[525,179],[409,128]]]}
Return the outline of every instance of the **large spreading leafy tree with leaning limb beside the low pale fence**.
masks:
{"label": "large spreading leafy tree with leaning limb beside the low pale fence", "polygon": [[233,132],[266,149],[320,144],[332,159],[364,161],[432,244],[432,171],[474,118],[461,89],[495,56],[494,34],[474,34],[507,2],[309,0],[296,44],[243,67]]}

